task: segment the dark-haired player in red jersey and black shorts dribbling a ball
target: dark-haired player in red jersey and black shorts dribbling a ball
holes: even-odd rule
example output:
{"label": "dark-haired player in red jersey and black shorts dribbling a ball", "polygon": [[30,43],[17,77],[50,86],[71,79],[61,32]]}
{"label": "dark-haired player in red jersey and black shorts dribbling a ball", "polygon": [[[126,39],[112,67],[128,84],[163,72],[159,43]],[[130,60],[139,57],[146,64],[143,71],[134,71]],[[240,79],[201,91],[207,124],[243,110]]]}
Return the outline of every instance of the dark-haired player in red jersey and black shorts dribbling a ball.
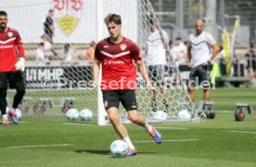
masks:
{"label": "dark-haired player in red jersey and black shorts dribbling a ball", "polygon": [[122,102],[130,120],[146,128],[147,132],[157,143],[161,143],[160,133],[148,125],[145,118],[137,112],[136,69],[134,62],[142,77],[146,80],[149,89],[154,89],[147,76],[147,68],[142,62],[139,49],[134,42],[122,36],[122,19],[120,15],[109,14],[104,19],[110,37],[96,44],[94,63],[94,82],[97,87],[100,65],[102,65],[101,89],[103,101],[109,114],[109,120],[120,137],[127,143],[129,150],[127,156],[136,155],[137,150],[128,136],[125,126],[119,119],[119,104]]}

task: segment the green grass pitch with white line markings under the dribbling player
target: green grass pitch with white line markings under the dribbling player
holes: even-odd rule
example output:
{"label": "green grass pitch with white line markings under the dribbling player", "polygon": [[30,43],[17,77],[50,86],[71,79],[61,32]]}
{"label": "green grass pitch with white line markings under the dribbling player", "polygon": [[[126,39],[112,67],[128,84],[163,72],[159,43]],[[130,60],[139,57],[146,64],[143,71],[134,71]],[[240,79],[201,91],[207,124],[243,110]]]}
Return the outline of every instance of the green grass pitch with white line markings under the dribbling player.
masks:
{"label": "green grass pitch with white line markings under the dribbling player", "polygon": [[[197,92],[201,100],[201,91]],[[255,108],[256,89],[211,91],[217,110],[235,110],[237,101],[250,101]],[[197,103],[197,102],[196,102]],[[65,118],[23,118],[19,125],[0,125],[0,166],[256,166],[256,114],[236,122],[234,114],[217,114],[195,124],[155,124],[162,139],[153,141],[145,129],[127,125],[138,155],[113,158],[109,145],[119,137],[111,125],[68,122]]]}

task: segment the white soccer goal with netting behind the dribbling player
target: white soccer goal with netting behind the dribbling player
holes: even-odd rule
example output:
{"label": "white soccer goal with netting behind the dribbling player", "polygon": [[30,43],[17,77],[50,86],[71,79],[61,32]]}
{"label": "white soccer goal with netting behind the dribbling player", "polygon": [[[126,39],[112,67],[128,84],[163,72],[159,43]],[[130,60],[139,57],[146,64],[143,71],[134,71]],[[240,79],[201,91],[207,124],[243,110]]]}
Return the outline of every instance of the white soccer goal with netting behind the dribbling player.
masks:
{"label": "white soccer goal with netting behind the dribbling player", "polygon": [[[54,10],[53,25],[45,22],[50,9]],[[135,42],[143,56],[150,31],[149,18],[159,25],[148,0],[3,0],[1,10],[8,14],[8,26],[19,31],[25,49],[27,91],[20,109],[24,114],[36,116],[65,115],[71,107],[78,111],[89,109],[104,119],[100,92],[90,87],[93,79],[93,49],[90,47],[109,36],[104,18],[109,13],[121,15],[123,36]],[[45,26],[48,29],[54,27],[52,43],[51,34],[45,31]],[[197,117],[186,83],[180,77],[162,30],[160,38],[168,53],[167,66],[163,74],[156,75],[164,75],[167,101],[163,102],[163,94],[157,87],[154,107],[156,111],[164,111],[166,117],[162,120],[153,113],[152,92],[142,82],[139,73],[136,90],[138,111],[151,122],[191,121]],[[9,104],[14,93],[14,90],[8,91]],[[181,111],[194,116],[183,119],[179,116]],[[120,116],[123,122],[129,122],[122,107]]]}

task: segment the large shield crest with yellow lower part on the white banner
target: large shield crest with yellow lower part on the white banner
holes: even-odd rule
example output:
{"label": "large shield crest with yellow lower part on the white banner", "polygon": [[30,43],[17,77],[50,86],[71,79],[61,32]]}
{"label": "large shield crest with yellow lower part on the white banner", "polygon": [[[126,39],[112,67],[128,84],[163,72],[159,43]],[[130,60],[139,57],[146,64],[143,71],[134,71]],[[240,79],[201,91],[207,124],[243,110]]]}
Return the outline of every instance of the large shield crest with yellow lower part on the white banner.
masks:
{"label": "large shield crest with yellow lower part on the white banner", "polygon": [[54,10],[58,26],[70,35],[82,17],[83,0],[54,0]]}

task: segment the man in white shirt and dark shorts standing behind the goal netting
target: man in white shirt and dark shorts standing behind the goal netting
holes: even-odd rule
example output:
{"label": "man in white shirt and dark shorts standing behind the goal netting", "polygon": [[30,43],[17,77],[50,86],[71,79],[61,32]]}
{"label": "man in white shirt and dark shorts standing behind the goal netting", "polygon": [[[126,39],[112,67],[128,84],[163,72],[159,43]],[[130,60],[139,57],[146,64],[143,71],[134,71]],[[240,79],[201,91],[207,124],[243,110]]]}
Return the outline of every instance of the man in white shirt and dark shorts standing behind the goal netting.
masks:
{"label": "man in white shirt and dark shorts standing behind the goal netting", "polygon": [[[165,50],[165,44],[168,43],[168,36],[160,30],[158,25],[154,23],[152,19],[149,20],[150,33],[146,39],[146,66],[148,77],[151,82],[157,84],[160,87],[160,92],[163,95],[163,106],[164,112],[168,112],[168,93],[164,89],[164,77],[165,77],[165,66],[167,51]],[[151,90],[151,112],[157,111],[157,91],[156,89]]]}

